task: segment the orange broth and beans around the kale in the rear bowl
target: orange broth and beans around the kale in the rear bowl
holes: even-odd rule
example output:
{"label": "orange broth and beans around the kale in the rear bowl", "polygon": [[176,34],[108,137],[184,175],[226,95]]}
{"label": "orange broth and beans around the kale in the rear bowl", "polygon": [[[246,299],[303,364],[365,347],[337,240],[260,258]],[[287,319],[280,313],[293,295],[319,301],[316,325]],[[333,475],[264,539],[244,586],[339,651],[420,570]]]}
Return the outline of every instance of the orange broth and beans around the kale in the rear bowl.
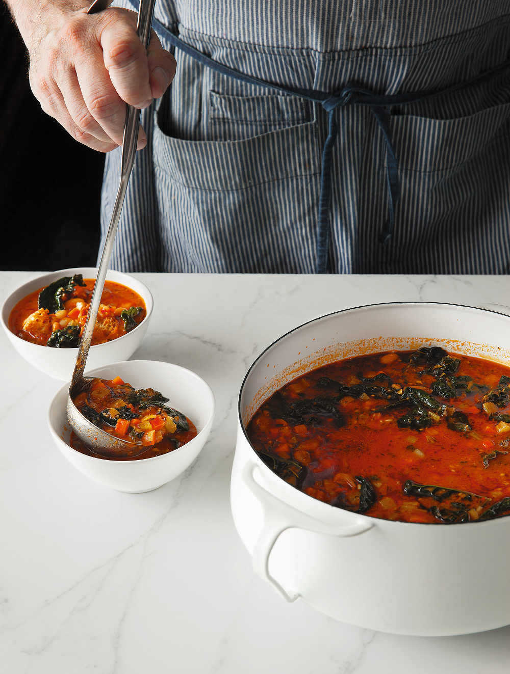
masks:
{"label": "orange broth and beans around the kale in the rear bowl", "polygon": [[[79,326],[83,332],[94,278],[84,278],[84,286],[74,286],[72,294],[64,302],[64,308],[56,313],[38,309],[38,295],[43,288],[35,290],[20,300],[9,315],[9,330],[32,344],[47,345],[56,331]],[[146,316],[145,303],[134,290],[114,281],[106,281],[99,307],[92,344],[103,344],[126,333],[125,321],[121,318],[124,309],[140,307],[134,317],[138,325]],[[135,326],[136,327],[136,326]],[[129,331],[129,330],[128,330]]]}

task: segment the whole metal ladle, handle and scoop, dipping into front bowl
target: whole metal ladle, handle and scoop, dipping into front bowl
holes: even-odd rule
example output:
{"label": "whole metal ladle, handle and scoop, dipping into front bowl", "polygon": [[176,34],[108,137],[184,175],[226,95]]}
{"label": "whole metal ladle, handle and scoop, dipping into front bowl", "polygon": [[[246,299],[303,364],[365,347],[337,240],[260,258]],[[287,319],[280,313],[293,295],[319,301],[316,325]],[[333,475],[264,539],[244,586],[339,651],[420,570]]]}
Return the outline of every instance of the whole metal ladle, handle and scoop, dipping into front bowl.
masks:
{"label": "whole metal ladle, handle and scoop, dipping into front bowl", "polygon": [[[95,0],[95,2],[90,5],[88,13],[92,14],[106,9],[110,1],[111,0]],[[140,0],[136,32],[138,33],[140,41],[144,44],[145,49],[148,48],[150,40],[150,26],[152,24],[152,14],[154,13],[154,2],[155,0]],[[78,437],[80,437],[80,439],[82,439],[95,454],[119,458],[137,456],[138,454],[145,452],[147,448],[143,445],[110,435],[106,431],[94,426],[94,424],[88,421],[88,419],[86,419],[78,410],[72,398],[76,397],[80,392],[87,390],[92,381],[92,377],[83,376],[83,371],[87,361],[90,342],[92,341],[94,326],[96,325],[96,317],[99,305],[101,304],[103,288],[105,287],[105,278],[110,264],[113,241],[115,241],[115,234],[117,233],[117,226],[119,225],[125,192],[126,189],[128,189],[128,181],[135,160],[139,126],[140,110],[128,105],[122,140],[121,180],[119,191],[117,192],[115,206],[113,206],[113,214],[111,216],[105,247],[97,270],[96,282],[94,283],[94,290],[92,291],[92,297],[90,298],[90,305],[88,307],[88,315],[80,340],[80,346],[78,348],[78,357],[76,358],[73,378],[71,386],[69,386],[69,394],[67,395],[67,419],[76,435],[78,435]]]}

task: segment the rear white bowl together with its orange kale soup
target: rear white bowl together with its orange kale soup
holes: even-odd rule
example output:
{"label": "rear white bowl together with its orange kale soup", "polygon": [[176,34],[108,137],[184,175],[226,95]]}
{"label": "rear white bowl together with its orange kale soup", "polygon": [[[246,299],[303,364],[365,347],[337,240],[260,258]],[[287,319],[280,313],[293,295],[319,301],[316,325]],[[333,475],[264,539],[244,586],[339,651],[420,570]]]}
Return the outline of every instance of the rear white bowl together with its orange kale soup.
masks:
{"label": "rear white bowl together with its orange kale soup", "polygon": [[[55,379],[67,381],[74,370],[96,271],[70,268],[37,276],[3,303],[1,322],[11,344]],[[142,282],[109,270],[87,368],[128,359],[142,342],[152,307]]]}

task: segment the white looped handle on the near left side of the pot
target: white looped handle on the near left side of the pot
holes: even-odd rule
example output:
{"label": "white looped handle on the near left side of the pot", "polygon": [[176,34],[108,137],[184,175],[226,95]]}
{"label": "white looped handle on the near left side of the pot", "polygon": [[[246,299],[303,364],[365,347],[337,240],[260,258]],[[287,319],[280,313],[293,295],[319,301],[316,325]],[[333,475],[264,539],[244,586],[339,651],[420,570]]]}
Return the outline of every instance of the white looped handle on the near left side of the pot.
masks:
{"label": "white looped handle on the near left side of the pot", "polygon": [[262,524],[262,531],[255,543],[253,551],[253,568],[254,572],[264,578],[273,585],[275,590],[283,599],[288,602],[295,601],[300,594],[297,592],[289,593],[285,588],[279,584],[276,578],[273,578],[269,573],[269,555],[277,542],[279,535],[289,528],[300,528],[307,531],[313,531],[320,534],[329,534],[331,536],[358,536],[374,526],[366,520],[358,520],[353,524],[329,524],[321,522],[316,518],[310,517],[300,510],[291,508],[290,505],[284,503],[273,494],[269,493],[254,477],[254,471],[260,468],[255,464],[248,463],[244,466],[242,471],[242,479],[245,485],[250,489],[251,493],[256,497],[260,505],[262,505],[262,512],[264,522]]}

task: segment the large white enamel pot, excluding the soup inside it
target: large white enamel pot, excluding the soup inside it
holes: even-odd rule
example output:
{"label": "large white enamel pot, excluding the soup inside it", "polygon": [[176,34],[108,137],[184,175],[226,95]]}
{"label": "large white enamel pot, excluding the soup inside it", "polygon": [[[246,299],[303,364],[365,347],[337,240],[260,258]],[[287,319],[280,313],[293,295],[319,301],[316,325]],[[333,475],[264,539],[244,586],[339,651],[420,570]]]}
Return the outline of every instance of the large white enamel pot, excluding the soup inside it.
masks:
{"label": "large white enamel pot, excluding the soup inside it", "polygon": [[510,318],[438,303],[370,305],[289,332],[250,367],[239,394],[231,506],[255,572],[287,601],[302,598],[372,630],[447,636],[510,624],[510,517],[468,524],[391,522],[333,508],[277,477],[246,425],[275,390],[339,359],[427,344],[510,365]]}

